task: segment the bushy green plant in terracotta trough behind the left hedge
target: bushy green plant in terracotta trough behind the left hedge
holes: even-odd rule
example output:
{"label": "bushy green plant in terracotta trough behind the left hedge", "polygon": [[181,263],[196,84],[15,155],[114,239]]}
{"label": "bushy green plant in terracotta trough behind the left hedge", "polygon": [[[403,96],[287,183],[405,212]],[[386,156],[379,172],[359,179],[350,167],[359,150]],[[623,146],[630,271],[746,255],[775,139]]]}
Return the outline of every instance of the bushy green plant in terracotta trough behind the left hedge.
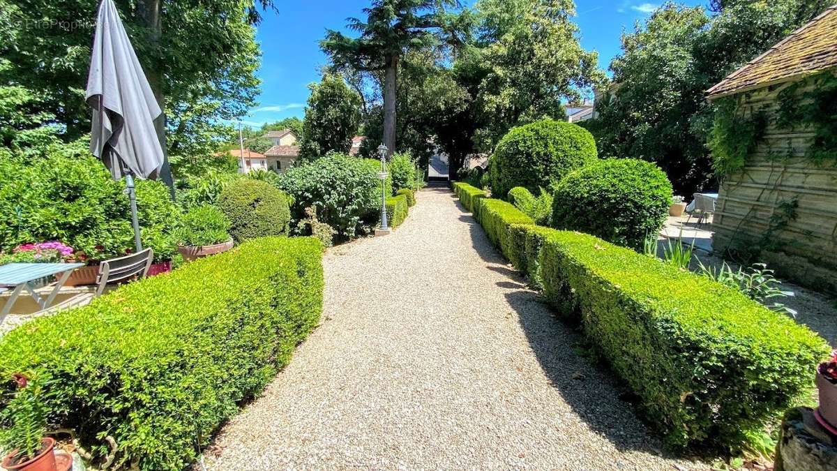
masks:
{"label": "bushy green plant in terracotta trough behind the left hedge", "polygon": [[177,251],[185,261],[229,251],[233,239],[229,236],[230,223],[223,212],[211,204],[188,210],[177,230]]}

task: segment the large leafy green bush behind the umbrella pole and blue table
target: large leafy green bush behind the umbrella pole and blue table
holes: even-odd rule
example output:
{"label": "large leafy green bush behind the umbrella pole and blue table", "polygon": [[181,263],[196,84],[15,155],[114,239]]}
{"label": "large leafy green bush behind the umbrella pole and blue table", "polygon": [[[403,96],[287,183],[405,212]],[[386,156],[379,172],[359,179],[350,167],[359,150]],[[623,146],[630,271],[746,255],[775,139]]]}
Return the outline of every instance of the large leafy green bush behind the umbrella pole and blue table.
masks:
{"label": "large leafy green bush behind the umbrella pole and blue table", "polygon": [[[85,260],[125,255],[134,248],[125,182],[112,179],[96,158],[58,150],[0,158],[0,251],[57,240]],[[170,259],[180,211],[160,182],[137,179],[136,199],[143,244],[157,260]]]}

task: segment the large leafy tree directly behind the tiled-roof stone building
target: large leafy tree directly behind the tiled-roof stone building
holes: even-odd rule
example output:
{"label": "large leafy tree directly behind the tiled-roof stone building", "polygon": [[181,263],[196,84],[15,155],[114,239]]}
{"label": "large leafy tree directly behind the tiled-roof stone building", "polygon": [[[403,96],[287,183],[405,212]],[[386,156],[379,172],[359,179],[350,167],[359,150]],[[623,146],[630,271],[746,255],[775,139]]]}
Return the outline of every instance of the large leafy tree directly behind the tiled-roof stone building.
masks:
{"label": "large leafy tree directly behind the tiled-roof stone building", "polygon": [[821,13],[823,0],[713,0],[712,13],[666,3],[610,65],[614,84],[588,125],[599,152],[655,162],[678,194],[715,183],[706,138],[712,85]]}

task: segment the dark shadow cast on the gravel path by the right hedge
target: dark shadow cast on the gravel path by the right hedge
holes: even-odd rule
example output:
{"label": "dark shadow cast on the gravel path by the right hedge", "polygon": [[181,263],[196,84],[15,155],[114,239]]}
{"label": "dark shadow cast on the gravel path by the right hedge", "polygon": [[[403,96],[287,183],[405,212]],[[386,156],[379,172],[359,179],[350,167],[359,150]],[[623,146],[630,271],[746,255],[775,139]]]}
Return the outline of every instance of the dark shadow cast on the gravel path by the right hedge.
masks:
{"label": "dark shadow cast on the gravel path by the right hedge", "polygon": [[634,406],[621,399],[629,396],[629,391],[619,386],[613,371],[579,353],[585,345],[583,335],[555,317],[537,292],[526,287],[521,273],[509,267],[491,245],[473,215],[458,200],[456,204],[463,212],[459,219],[469,226],[472,244],[485,261],[485,268],[509,277],[507,282],[497,283],[498,289],[516,290],[505,293],[506,301],[516,313],[542,370],[564,401],[591,430],[606,437],[620,452],[675,458],[662,451],[660,439],[639,421]]}

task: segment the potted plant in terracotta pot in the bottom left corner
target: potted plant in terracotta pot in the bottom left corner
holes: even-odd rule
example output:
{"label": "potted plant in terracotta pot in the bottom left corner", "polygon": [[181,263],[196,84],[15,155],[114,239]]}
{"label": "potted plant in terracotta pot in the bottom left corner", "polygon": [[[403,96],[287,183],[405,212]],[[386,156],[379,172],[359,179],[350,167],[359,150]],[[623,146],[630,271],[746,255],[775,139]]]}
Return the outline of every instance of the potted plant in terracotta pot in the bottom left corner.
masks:
{"label": "potted plant in terracotta pot in the bottom left corner", "polygon": [[73,457],[55,453],[55,439],[46,437],[47,409],[39,386],[17,373],[13,397],[3,410],[0,447],[10,451],[2,466],[9,471],[67,471]]}

